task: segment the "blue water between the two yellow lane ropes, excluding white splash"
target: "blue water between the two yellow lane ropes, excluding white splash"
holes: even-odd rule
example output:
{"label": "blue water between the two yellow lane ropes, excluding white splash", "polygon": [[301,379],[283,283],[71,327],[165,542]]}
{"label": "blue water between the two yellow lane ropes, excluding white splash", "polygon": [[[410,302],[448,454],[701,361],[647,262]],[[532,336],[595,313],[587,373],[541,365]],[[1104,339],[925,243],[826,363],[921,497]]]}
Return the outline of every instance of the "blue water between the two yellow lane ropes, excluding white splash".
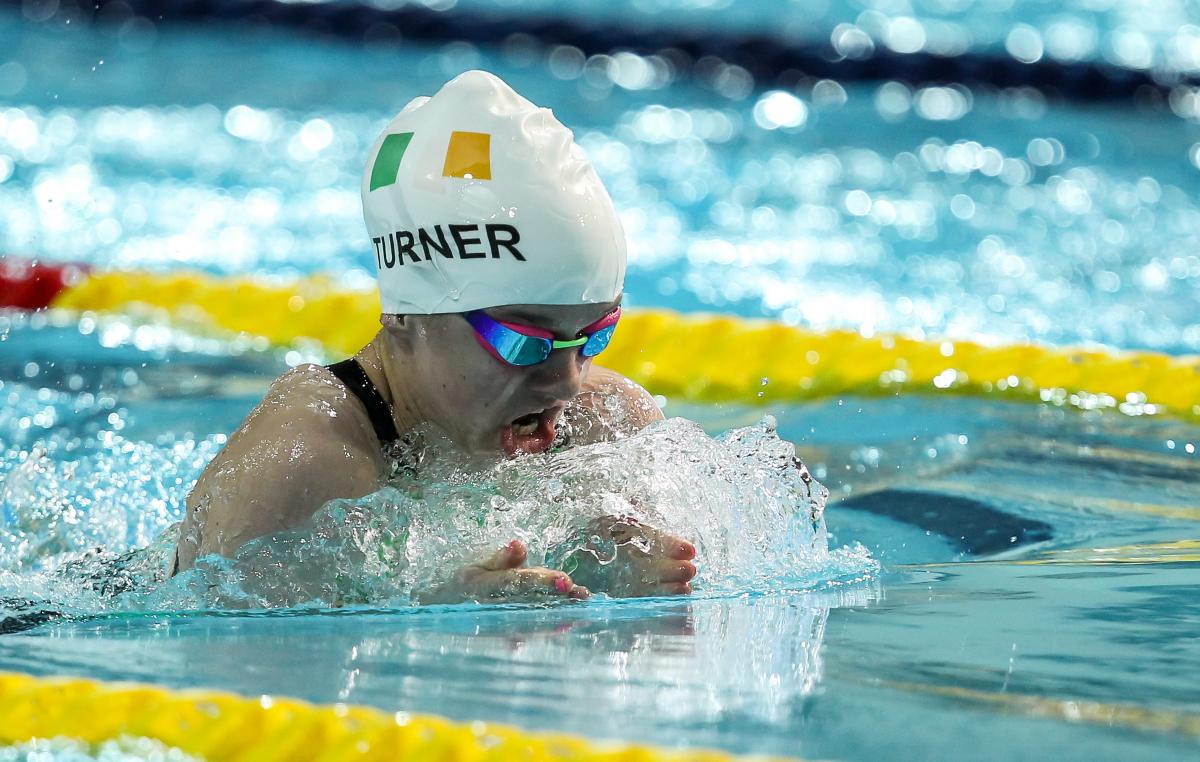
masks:
{"label": "blue water between the two yellow lane ropes, excluding white splash", "polygon": [[[6,342],[20,356],[38,356],[35,344],[70,356],[92,390],[78,394],[112,400],[59,424],[80,442],[55,460],[119,451],[114,410],[121,440],[143,446],[133,472],[174,463],[160,474],[168,485],[214,451],[181,455],[179,443],[229,431],[284,367],[260,353],[106,348],[73,325],[25,323]],[[144,380],[126,383],[130,367]],[[2,372],[10,394],[58,385],[53,368]],[[182,379],[214,398],[175,404]],[[781,436],[836,485],[830,544],[864,544],[881,574],[553,608],[114,612],[7,635],[0,668],[817,758],[876,758],[896,744],[906,757],[952,758],[962,743],[991,758],[1194,752],[1195,551],[1171,544],[1195,536],[1200,480],[1183,452],[1195,427],[976,400],[774,409]],[[762,409],[667,413],[715,433]],[[18,427],[6,422],[7,436]],[[96,493],[125,476],[100,475]],[[160,520],[178,516],[178,494]]]}

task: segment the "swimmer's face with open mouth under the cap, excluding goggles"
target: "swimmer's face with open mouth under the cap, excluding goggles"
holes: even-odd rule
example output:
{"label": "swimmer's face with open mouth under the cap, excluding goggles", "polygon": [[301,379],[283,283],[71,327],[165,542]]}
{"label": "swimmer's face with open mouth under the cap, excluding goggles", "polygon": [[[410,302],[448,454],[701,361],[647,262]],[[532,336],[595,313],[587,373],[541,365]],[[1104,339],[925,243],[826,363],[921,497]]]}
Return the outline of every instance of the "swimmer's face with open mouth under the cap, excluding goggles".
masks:
{"label": "swimmer's face with open mouth under the cap, excluding goggles", "polygon": [[[575,338],[612,312],[598,305],[509,305],[492,318]],[[564,406],[583,389],[592,359],[558,349],[545,362],[512,366],[492,356],[461,314],[409,317],[402,334],[419,413],[469,452],[539,452],[553,443]]]}

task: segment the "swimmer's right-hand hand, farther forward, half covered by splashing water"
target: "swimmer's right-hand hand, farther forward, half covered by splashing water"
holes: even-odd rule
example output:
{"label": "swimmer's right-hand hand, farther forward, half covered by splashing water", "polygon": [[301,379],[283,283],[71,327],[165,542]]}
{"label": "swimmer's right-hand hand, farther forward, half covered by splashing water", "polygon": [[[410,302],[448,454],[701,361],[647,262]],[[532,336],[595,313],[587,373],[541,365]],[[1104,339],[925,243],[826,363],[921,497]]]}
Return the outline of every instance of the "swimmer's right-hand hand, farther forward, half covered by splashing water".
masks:
{"label": "swimmer's right-hand hand, farther forward, half covered by splashing water", "polygon": [[683,538],[622,516],[593,521],[588,534],[564,569],[590,589],[613,598],[691,593],[696,547]]}

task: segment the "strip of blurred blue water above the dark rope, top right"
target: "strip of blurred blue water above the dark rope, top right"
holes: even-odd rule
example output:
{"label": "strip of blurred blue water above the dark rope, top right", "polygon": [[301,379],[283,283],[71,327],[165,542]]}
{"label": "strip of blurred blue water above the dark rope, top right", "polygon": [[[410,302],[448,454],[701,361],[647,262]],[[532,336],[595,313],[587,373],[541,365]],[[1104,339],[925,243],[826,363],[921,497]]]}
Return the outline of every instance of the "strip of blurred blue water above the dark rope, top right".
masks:
{"label": "strip of blurred blue water above the dark rope, top right", "polygon": [[876,48],[950,56],[1007,53],[1026,62],[1105,61],[1182,74],[1200,71],[1194,47],[1200,28],[1186,0],[426,0],[424,5],[500,18],[534,11],[584,25],[636,23],[677,32],[763,35],[824,43],[847,58]]}

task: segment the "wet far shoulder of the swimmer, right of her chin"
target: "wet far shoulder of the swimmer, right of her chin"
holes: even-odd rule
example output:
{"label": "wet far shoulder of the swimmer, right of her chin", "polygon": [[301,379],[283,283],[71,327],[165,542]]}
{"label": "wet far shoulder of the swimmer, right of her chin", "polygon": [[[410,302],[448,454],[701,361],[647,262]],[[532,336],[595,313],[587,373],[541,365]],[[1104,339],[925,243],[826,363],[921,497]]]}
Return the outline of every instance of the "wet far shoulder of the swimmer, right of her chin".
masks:
{"label": "wet far shoulder of the swimmer, right of her chin", "polygon": [[662,420],[650,392],[616,371],[596,365],[564,412],[571,426],[571,444],[620,439]]}

